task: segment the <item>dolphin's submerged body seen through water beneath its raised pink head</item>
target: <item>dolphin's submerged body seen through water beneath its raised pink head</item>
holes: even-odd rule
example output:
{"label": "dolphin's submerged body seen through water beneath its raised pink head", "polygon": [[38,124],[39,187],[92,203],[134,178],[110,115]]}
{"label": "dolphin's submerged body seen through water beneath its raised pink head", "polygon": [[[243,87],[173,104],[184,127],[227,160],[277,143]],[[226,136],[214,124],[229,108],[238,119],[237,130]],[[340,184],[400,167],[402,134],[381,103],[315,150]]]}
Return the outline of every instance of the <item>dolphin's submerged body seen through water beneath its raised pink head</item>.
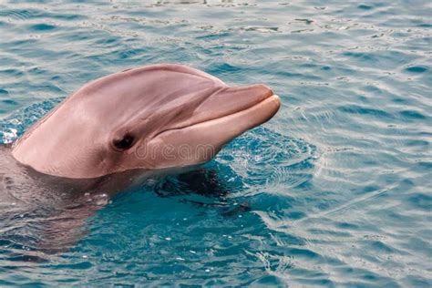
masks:
{"label": "dolphin's submerged body seen through water beneath its raised pink head", "polygon": [[[87,234],[87,219],[120,191],[151,191],[161,198],[179,193],[200,194],[221,199],[217,201],[219,204],[224,202],[226,183],[220,181],[214,171],[191,172],[184,168],[129,170],[97,179],[60,179],[23,167],[12,157],[8,147],[0,146],[1,257],[9,261],[11,267],[13,263],[20,267],[22,262],[45,262],[67,252]],[[170,178],[176,185],[183,184],[172,185]],[[197,184],[199,186],[194,187]],[[146,209],[141,212],[145,217]]]}

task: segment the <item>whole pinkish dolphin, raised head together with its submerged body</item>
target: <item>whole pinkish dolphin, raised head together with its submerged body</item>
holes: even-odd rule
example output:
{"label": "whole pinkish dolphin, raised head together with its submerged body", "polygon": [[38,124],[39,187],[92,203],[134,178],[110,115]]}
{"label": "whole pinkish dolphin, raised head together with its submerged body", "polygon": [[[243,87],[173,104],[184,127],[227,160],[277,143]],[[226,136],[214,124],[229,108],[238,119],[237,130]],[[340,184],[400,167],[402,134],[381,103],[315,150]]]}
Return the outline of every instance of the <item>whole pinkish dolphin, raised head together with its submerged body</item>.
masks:
{"label": "whole pinkish dolphin, raised head together with its submerged body", "polygon": [[[110,195],[142,183],[148,171],[159,177],[211,159],[279,107],[269,87],[228,87],[181,65],[90,82],[0,146],[0,241],[32,247],[22,252],[36,261],[65,251]],[[17,235],[29,237],[17,242]]]}

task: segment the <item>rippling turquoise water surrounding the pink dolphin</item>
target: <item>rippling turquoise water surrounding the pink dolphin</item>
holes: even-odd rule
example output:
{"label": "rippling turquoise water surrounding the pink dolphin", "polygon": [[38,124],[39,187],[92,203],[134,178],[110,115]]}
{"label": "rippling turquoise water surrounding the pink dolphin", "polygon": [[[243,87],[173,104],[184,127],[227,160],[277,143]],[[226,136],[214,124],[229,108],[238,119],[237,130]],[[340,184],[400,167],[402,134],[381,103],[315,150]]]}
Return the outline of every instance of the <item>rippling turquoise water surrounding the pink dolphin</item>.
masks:
{"label": "rippling turquoise water surrounding the pink dolphin", "polygon": [[200,170],[118,194],[48,261],[19,257],[7,221],[23,215],[3,217],[0,285],[431,286],[431,15],[422,0],[0,4],[3,142],[151,63],[283,100]]}

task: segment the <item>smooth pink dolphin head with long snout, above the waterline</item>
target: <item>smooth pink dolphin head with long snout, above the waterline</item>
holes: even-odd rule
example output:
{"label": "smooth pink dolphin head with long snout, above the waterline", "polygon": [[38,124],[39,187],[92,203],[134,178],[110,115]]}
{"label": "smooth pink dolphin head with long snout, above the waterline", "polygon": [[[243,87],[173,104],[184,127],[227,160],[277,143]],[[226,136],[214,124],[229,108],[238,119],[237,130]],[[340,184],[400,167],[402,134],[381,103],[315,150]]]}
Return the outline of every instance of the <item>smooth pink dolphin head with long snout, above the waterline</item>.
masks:
{"label": "smooth pink dolphin head with long snout, above the waterline", "polygon": [[228,87],[182,65],[138,67],[81,87],[18,139],[12,155],[73,179],[189,166],[210,160],[280,105],[264,85]]}

